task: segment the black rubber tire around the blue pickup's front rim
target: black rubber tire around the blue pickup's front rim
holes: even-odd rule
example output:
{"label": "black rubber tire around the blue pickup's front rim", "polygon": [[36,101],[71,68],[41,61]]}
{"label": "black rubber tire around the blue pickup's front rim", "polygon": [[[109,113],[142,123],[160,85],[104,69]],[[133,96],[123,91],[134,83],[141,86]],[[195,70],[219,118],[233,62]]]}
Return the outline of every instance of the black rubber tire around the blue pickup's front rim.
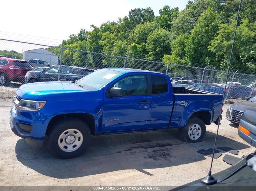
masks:
{"label": "black rubber tire around the blue pickup's front rim", "polygon": [[[63,151],[59,146],[59,137],[68,129],[77,129],[82,134],[82,143],[75,151]],[[83,154],[91,140],[91,130],[88,125],[80,119],[69,117],[55,123],[48,132],[48,148],[58,158],[76,158]],[[64,140],[62,140],[64,141]],[[64,144],[66,144],[64,142]]]}

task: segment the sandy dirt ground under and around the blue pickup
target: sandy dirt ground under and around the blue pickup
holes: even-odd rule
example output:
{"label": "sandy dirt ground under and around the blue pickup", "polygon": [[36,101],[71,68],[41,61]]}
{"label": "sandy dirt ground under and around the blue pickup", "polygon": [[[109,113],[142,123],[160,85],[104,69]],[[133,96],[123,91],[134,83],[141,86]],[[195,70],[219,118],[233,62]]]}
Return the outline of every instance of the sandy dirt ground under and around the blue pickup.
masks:
{"label": "sandy dirt ground under and around the blue pickup", "polygon": [[[11,99],[0,99],[0,185],[156,185],[178,186],[204,177],[211,158],[197,153],[213,148],[217,125],[207,126],[206,140],[184,143],[176,129],[117,135],[91,139],[85,154],[75,159],[55,158],[45,144],[31,148],[14,135],[9,126]],[[225,154],[241,158],[255,148],[238,136],[238,126],[225,119],[224,106],[218,146],[229,146],[238,155],[224,153],[214,159],[212,172],[230,167]]]}

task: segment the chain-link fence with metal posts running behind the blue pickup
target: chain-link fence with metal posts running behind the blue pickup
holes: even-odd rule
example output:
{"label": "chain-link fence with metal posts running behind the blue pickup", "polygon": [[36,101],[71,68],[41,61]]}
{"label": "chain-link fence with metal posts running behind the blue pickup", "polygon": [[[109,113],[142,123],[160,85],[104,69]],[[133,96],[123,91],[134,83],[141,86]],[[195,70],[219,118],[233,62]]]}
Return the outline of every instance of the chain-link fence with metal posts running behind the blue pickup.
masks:
{"label": "chain-link fence with metal posts running behind the blue pickup", "polygon": [[170,76],[173,86],[225,93],[228,102],[256,95],[256,76],[239,71],[229,73],[224,92],[226,71],[0,39],[0,97],[12,97],[22,84],[76,81],[98,69],[109,67],[165,73]]}

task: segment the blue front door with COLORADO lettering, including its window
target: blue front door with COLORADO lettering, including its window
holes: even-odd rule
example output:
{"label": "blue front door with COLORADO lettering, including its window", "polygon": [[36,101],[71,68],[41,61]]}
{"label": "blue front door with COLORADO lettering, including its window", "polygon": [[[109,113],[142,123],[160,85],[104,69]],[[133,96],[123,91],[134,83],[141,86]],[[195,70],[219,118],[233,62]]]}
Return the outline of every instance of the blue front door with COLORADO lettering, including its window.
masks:
{"label": "blue front door with COLORADO lettering, including its window", "polygon": [[[105,95],[103,131],[125,132],[149,129],[152,95],[149,94],[147,75],[124,77],[112,87],[123,89],[122,97]],[[107,91],[108,91],[107,90]]]}

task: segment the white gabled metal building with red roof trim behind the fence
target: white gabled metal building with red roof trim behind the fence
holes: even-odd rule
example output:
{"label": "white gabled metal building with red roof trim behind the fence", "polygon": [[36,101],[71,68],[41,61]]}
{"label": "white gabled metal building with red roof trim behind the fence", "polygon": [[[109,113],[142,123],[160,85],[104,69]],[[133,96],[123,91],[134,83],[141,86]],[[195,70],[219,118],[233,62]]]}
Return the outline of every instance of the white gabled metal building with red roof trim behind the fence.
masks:
{"label": "white gabled metal building with red roof trim behind the fence", "polygon": [[58,55],[44,48],[27,50],[23,52],[23,60],[39,59],[48,62],[51,65],[58,64]]}

